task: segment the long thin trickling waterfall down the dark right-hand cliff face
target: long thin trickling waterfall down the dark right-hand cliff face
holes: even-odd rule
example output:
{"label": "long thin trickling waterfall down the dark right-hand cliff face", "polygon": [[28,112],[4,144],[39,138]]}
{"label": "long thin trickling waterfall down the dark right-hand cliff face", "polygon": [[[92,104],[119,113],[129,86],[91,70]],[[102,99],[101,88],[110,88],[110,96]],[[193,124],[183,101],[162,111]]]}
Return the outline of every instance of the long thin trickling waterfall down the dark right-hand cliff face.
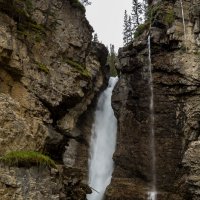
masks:
{"label": "long thin trickling waterfall down the dark right-hand cliff face", "polygon": [[156,200],[156,152],[155,152],[155,129],[154,129],[154,89],[153,89],[153,76],[151,66],[151,36],[148,36],[148,60],[149,60],[149,89],[150,89],[150,150],[151,150],[151,173],[152,173],[152,188],[148,193],[148,200]]}

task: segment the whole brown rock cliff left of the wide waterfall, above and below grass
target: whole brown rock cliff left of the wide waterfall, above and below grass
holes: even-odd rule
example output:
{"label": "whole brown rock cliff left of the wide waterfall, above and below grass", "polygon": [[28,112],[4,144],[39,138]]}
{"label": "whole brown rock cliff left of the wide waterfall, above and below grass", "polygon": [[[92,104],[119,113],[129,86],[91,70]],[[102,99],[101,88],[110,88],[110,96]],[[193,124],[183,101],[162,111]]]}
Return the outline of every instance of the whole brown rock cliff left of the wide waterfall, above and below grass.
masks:
{"label": "whole brown rock cliff left of the wide waterfall, above and below grass", "polygon": [[[0,156],[41,151],[86,170],[91,117],[85,111],[104,87],[107,58],[104,45],[91,42],[92,31],[76,0],[0,0]],[[85,198],[62,190],[80,182],[77,174],[64,185],[50,175],[1,166],[0,199]]]}

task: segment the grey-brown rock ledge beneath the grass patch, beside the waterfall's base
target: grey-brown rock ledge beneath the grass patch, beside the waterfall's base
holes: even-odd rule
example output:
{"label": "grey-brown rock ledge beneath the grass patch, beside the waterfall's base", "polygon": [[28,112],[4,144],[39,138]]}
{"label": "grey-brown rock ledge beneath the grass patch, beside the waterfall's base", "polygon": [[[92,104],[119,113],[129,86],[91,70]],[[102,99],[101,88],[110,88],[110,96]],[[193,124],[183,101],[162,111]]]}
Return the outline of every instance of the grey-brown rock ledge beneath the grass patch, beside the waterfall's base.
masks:
{"label": "grey-brown rock ledge beneath the grass patch, beside the waterfall's base", "polygon": [[80,170],[59,167],[0,168],[1,200],[83,200],[89,187],[81,182]]}

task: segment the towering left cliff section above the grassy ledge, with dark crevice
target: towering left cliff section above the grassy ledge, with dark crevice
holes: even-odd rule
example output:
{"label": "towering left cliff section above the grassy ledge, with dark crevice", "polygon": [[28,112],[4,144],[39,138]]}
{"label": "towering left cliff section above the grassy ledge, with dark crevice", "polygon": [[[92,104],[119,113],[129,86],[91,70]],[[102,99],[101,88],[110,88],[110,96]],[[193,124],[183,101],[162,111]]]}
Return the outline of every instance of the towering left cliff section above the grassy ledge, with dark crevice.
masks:
{"label": "towering left cliff section above the grassy ledge, with dark crevice", "polygon": [[[12,111],[10,121],[18,125],[2,121],[2,137],[10,139],[2,139],[5,149],[0,152],[48,151],[48,143],[57,149],[60,144],[61,152],[68,141],[63,140],[73,135],[77,120],[105,83],[107,49],[91,44],[92,27],[70,1],[12,1],[8,6],[2,0],[0,15],[0,93],[20,107],[2,105],[2,116],[6,119]],[[56,132],[57,144],[52,142]]]}

